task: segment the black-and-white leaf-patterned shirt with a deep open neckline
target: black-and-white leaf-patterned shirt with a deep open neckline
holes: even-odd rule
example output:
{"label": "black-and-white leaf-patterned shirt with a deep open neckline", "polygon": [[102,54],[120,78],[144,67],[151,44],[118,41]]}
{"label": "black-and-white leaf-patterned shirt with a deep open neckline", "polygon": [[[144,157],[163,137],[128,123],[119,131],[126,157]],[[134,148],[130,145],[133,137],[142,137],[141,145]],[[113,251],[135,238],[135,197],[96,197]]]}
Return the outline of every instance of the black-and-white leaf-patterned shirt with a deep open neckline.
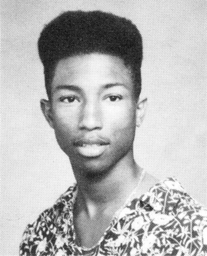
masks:
{"label": "black-and-white leaf-patterned shirt with a deep open neckline", "polygon": [[77,186],[71,186],[27,226],[20,255],[207,255],[207,209],[192,200],[174,178],[142,196],[135,191],[90,249],[75,244],[76,195]]}

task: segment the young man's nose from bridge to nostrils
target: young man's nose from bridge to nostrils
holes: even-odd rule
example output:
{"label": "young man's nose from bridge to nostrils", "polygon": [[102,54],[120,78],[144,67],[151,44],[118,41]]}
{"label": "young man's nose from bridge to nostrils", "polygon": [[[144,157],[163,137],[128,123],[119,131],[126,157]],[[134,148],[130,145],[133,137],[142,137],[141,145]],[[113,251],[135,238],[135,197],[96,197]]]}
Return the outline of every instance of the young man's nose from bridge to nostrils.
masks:
{"label": "young man's nose from bridge to nostrils", "polygon": [[102,124],[102,114],[98,102],[88,102],[81,110],[81,118],[79,122],[79,128],[81,130],[100,130]]}

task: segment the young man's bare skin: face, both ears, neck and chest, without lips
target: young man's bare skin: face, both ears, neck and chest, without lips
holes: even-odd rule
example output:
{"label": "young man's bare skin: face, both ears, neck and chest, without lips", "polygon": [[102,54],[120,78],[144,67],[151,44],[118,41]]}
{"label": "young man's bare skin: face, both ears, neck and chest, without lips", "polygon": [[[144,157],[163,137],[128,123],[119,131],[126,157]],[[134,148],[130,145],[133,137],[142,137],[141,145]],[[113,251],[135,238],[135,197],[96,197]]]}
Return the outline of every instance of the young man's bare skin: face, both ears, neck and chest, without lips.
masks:
{"label": "young man's bare skin: face, both ears, neck and chest, without lips", "polygon": [[[134,161],[133,141],[146,99],[140,102],[134,90],[130,69],[122,59],[92,53],[61,59],[50,100],[41,100],[77,181],[74,225],[81,245],[90,247],[99,240],[138,184],[141,169]],[[107,145],[96,156],[82,154],[75,144],[97,138]]]}

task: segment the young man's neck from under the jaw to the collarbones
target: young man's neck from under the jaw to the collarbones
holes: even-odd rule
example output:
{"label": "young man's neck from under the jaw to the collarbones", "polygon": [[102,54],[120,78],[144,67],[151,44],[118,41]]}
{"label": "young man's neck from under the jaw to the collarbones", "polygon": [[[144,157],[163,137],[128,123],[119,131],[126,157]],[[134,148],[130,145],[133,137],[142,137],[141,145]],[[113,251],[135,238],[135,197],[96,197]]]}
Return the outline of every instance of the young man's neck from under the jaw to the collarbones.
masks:
{"label": "young man's neck from under the jaw to the collarbones", "polygon": [[138,184],[141,169],[136,165],[131,150],[110,170],[105,170],[106,175],[99,179],[80,175],[82,170],[74,173],[78,186],[77,200],[89,213],[90,209],[103,211],[110,205],[120,207]]}

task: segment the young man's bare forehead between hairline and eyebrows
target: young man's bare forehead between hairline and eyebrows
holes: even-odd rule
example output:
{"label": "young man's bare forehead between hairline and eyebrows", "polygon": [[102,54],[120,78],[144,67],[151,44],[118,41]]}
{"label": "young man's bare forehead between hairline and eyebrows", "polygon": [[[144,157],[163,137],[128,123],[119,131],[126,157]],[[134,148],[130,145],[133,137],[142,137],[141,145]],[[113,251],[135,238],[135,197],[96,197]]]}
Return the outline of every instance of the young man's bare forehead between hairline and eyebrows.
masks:
{"label": "young man's bare forehead between hairline and eyebrows", "polygon": [[130,69],[117,56],[92,53],[61,59],[51,86],[52,90],[59,85],[98,88],[111,83],[132,84]]}

